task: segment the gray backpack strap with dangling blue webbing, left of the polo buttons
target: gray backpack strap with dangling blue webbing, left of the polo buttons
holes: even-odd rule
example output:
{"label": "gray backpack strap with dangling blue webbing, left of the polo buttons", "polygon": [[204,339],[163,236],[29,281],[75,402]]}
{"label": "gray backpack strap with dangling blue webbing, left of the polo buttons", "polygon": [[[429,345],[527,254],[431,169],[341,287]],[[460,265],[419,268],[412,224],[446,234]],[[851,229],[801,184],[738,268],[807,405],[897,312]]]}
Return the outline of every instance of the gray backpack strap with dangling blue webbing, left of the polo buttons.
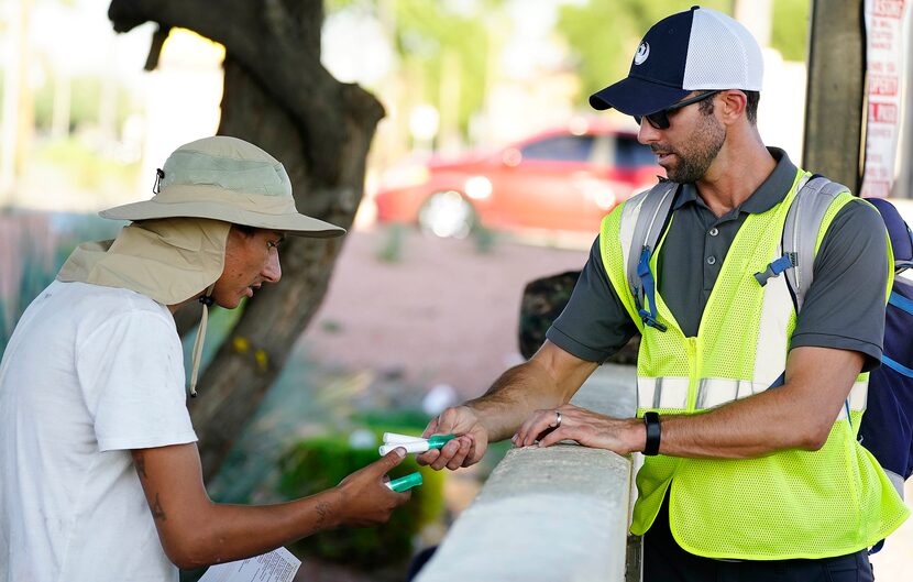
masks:
{"label": "gray backpack strap with dangling blue webbing, left of the polo buttons", "polygon": [[640,211],[634,227],[631,246],[625,265],[628,287],[631,289],[637,312],[645,326],[666,331],[657,319],[656,279],[650,260],[672,211],[679,184],[663,180],[650,189],[640,202]]}

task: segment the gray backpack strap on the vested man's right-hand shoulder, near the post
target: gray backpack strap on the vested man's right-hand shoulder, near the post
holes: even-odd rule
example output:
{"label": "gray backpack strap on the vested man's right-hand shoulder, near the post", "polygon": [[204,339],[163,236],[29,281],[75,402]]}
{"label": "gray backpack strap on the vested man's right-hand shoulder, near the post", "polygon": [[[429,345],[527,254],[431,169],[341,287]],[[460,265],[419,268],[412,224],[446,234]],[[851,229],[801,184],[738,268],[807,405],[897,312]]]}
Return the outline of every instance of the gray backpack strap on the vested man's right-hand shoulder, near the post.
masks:
{"label": "gray backpack strap on the vested man's right-hand shoulder, near the post", "polygon": [[[805,178],[803,178],[805,179]],[[793,256],[793,265],[785,272],[787,283],[795,295],[795,311],[802,309],[805,294],[814,279],[815,243],[824,215],[831,202],[849,188],[824,176],[807,179],[799,187],[795,199],[787,212],[783,226],[783,253]]]}

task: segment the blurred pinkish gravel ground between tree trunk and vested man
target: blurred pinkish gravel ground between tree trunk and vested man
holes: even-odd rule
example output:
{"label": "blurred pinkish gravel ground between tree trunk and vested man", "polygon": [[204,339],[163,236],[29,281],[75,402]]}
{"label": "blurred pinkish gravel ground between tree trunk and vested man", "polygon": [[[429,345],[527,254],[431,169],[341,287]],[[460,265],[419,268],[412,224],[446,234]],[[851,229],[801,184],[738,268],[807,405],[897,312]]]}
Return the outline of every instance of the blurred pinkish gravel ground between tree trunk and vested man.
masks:
{"label": "blurred pinkish gravel ground between tree trunk and vested man", "polygon": [[[446,384],[461,397],[481,394],[521,361],[525,285],[579,271],[588,251],[495,239],[480,252],[471,239],[380,227],[348,239],[304,348],[323,365],[370,369],[426,389]],[[399,261],[377,259],[385,250]]]}

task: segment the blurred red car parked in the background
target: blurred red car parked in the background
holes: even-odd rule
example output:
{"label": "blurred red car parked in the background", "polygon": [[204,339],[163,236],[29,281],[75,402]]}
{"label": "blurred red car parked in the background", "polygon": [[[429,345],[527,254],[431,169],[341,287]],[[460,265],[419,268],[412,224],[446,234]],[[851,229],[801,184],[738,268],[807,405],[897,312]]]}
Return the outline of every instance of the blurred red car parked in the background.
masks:
{"label": "blurred red car parked in the background", "polygon": [[635,130],[579,120],[494,154],[391,172],[375,196],[377,220],[454,238],[480,224],[595,234],[615,205],[663,173]]}

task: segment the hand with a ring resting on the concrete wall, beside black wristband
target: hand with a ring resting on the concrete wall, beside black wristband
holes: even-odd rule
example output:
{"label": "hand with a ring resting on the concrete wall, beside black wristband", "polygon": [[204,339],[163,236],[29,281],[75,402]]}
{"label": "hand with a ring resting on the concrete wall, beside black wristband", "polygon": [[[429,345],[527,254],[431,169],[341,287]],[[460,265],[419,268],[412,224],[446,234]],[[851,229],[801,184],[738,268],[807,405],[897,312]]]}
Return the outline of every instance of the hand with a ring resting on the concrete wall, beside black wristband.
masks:
{"label": "hand with a ring resting on the concrete wall, beside black wristband", "polygon": [[[561,413],[561,424],[558,414]],[[550,447],[561,440],[575,440],[584,447],[606,449],[618,454],[642,451],[647,430],[636,418],[612,418],[572,404],[536,410],[510,439],[515,447]]]}

